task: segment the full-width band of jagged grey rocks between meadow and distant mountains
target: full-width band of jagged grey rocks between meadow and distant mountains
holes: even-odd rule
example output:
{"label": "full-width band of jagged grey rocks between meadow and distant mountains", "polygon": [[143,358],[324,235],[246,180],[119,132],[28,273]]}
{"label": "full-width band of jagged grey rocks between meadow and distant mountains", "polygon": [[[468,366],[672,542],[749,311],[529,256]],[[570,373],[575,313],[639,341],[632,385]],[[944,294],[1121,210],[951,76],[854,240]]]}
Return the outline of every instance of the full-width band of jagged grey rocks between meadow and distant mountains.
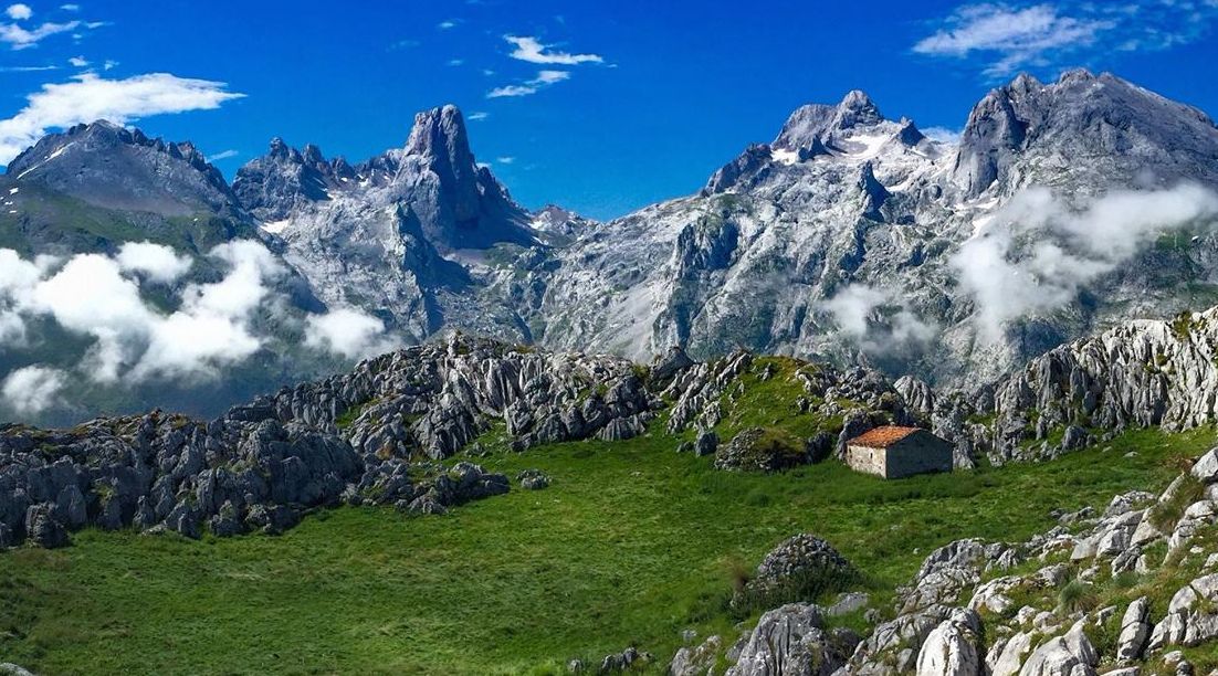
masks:
{"label": "full-width band of jagged grey rocks between meadow and distant mountains", "polygon": [[[733,471],[781,471],[840,453],[885,423],[922,424],[956,465],[1052,458],[1128,426],[1181,430],[1216,419],[1218,308],[1136,322],[1056,348],[982,387],[937,392],[873,370],[836,370],[738,351],[649,367],[452,334],[284,389],[212,421],[152,412],[69,430],[0,429],[0,543],[46,546],[94,524],[191,537],[279,531],[339,503],[443,512],[505,492],[473,463],[482,435],[516,451],[626,440],[663,419],[676,449]],[[532,477],[531,485],[536,485]]]}

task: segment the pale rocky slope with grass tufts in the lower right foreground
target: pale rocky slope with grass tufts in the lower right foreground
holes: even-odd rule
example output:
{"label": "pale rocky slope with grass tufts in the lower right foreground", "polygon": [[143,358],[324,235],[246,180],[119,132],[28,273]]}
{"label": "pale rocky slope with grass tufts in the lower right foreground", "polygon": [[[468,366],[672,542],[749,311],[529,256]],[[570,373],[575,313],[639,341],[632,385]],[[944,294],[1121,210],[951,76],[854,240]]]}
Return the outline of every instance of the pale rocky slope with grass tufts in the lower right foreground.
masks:
{"label": "pale rocky slope with grass tufts in the lower right foreground", "polygon": [[[1102,513],[1062,514],[1058,526],[1027,542],[961,540],[935,549],[892,609],[867,610],[885,618],[870,636],[833,627],[838,605],[860,594],[829,608],[788,603],[736,638],[692,642],[670,674],[1185,675],[1196,672],[1191,659],[1213,669],[1216,498],[1218,449],[1160,496],[1114,496]],[[847,564],[826,549],[783,543],[758,575],[775,558],[788,570],[836,574]]]}

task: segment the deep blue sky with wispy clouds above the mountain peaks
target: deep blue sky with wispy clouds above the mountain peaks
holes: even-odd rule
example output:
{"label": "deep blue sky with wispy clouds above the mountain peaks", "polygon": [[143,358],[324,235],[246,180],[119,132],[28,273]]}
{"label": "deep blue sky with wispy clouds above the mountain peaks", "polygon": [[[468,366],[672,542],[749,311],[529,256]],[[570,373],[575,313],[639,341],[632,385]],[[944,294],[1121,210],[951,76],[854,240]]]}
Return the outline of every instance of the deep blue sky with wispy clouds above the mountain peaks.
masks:
{"label": "deep blue sky with wispy clouds above the mountain peaks", "polygon": [[228,175],[275,135],[359,161],[452,102],[521,203],[597,218],[697,190],[799,105],[855,88],[959,130],[1015,73],[1086,66],[1218,113],[1218,0],[0,6],[0,155],[105,114]]}

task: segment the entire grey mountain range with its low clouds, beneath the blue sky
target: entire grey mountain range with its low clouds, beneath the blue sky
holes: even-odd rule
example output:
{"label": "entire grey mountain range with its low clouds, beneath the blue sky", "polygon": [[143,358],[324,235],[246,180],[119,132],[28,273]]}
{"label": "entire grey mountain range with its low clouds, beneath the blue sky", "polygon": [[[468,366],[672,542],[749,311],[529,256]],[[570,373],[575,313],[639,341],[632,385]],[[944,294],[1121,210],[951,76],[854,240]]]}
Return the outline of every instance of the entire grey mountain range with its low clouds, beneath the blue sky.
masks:
{"label": "entire grey mountain range with its low clouds, beneath the blue sky", "polygon": [[1216,190],[1212,119],[1086,71],[994,89],[955,141],[862,91],[803,106],[697,194],[605,223],[516,203],[453,106],[356,164],[274,139],[231,184],[190,143],[99,121],[0,178],[24,270],[0,274],[0,415],[213,415],[452,330],[976,389],[1218,302]]}

